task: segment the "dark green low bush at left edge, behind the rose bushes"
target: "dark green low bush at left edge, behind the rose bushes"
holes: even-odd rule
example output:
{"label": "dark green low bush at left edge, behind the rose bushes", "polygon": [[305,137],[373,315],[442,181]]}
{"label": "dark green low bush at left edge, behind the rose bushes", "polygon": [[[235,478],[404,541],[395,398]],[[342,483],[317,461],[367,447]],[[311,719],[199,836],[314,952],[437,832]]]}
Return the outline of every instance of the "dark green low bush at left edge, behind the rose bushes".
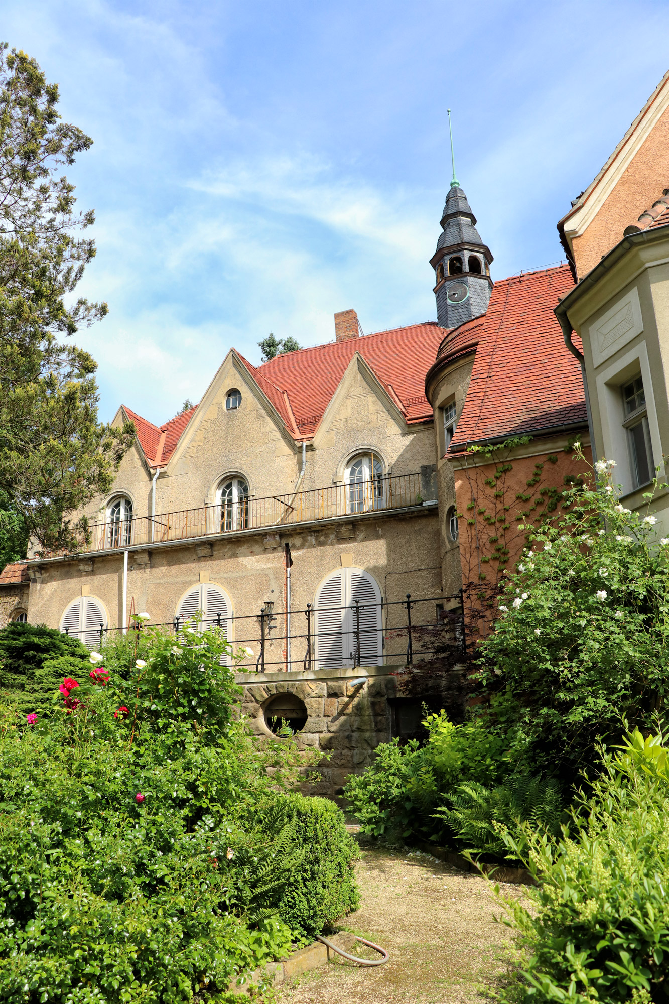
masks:
{"label": "dark green low bush at left edge, behind the rose bushes", "polygon": [[[45,713],[62,676],[80,672],[88,650],[44,624],[10,623],[0,631],[0,690],[8,692],[21,712]],[[54,660],[68,660],[54,664]],[[62,669],[62,675],[61,675]]]}

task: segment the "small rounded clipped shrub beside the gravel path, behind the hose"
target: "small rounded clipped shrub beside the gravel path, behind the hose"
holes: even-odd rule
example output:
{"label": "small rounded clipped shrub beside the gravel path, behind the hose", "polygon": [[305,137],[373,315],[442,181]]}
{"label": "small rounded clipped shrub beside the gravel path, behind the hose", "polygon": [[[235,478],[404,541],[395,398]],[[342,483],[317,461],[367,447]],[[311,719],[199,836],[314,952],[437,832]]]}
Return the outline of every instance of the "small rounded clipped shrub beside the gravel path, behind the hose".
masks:
{"label": "small rounded clipped shrub beside the gravel path, behind the hose", "polygon": [[279,817],[292,819],[297,846],[304,850],[283,887],[279,916],[291,931],[312,938],[358,909],[358,844],[342,810],[325,798],[284,795],[273,808],[280,809]]}

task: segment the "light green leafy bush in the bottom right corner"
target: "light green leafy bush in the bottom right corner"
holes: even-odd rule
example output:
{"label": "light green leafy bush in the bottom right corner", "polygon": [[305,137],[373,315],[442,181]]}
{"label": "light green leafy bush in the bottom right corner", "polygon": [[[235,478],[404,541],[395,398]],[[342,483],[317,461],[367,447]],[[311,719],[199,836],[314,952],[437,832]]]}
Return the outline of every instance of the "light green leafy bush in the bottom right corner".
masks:
{"label": "light green leafy bush in the bottom right corner", "polygon": [[[510,834],[538,887],[531,905],[502,901],[520,933],[518,982],[502,998],[608,1004],[666,1000],[669,978],[669,770],[659,735],[635,731],[617,759],[603,757],[571,833],[551,841]],[[503,832],[503,831],[502,831]]]}

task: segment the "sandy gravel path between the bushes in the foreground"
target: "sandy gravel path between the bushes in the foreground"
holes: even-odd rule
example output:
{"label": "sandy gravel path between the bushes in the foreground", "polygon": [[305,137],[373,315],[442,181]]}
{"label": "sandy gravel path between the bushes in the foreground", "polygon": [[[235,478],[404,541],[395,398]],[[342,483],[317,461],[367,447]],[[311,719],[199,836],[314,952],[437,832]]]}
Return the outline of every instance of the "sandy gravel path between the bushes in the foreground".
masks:
{"label": "sandy gravel path between the bushes in the foreground", "polygon": [[[282,988],[280,1004],[470,1004],[485,999],[482,985],[505,970],[498,957],[510,933],[493,920],[499,909],[484,878],[428,854],[365,850],[358,880],[361,907],[343,927],[388,949],[390,960],[375,969],[344,959],[322,966]],[[517,886],[502,888],[520,894]],[[364,951],[358,954],[364,957]]]}

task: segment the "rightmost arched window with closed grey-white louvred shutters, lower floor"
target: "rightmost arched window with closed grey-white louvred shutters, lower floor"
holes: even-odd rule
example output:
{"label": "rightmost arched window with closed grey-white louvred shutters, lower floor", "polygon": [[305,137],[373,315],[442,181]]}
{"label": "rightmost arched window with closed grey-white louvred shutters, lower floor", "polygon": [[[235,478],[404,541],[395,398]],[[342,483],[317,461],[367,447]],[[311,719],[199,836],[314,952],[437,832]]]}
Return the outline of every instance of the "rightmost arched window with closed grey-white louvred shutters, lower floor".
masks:
{"label": "rightmost arched window with closed grey-white louvred shutters, lower floor", "polygon": [[328,575],[313,613],[317,669],[383,664],[381,589],[368,572],[339,568]]}

